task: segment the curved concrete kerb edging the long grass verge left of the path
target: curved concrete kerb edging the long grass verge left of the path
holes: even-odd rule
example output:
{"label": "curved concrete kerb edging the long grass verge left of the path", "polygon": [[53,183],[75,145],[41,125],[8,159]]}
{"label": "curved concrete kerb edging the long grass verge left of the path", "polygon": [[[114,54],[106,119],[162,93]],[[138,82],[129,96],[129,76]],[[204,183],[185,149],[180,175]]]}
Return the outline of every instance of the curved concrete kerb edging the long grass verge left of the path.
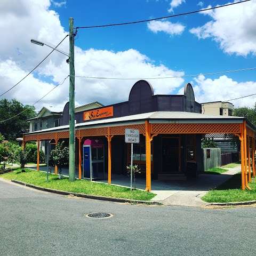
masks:
{"label": "curved concrete kerb edging the long grass verge left of the path", "polygon": [[95,196],[95,195],[86,195],[82,193],[74,193],[74,192],[68,192],[68,191],[62,191],[62,190],[56,190],[56,189],[51,189],[51,188],[43,188],[39,186],[35,186],[33,184],[28,184],[26,182],[22,182],[19,180],[11,180],[14,183],[17,183],[19,185],[23,185],[26,187],[46,191],[46,192],[51,192],[55,194],[60,194],[60,195],[73,195],[77,197],[83,197],[83,198],[89,198],[89,199],[96,199],[96,200],[102,200],[102,201],[111,201],[111,202],[118,202],[118,203],[130,203],[130,204],[147,204],[147,205],[163,205],[160,202],[157,201],[143,201],[143,200],[133,200],[133,199],[126,199],[126,198],[116,198],[116,197],[107,197],[107,196]]}

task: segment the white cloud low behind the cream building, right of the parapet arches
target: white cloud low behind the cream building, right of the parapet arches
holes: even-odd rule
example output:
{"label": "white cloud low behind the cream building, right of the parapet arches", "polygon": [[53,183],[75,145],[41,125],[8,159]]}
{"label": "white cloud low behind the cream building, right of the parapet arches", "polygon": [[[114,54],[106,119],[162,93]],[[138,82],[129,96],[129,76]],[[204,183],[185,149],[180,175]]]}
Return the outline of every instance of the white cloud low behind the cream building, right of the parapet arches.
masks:
{"label": "white cloud low behind the cream building, right of the parapet arches", "polygon": [[[195,98],[198,102],[225,101],[253,94],[256,91],[256,82],[237,82],[226,75],[219,78],[205,78],[198,76],[193,82]],[[256,96],[231,101],[235,107],[253,107]]]}

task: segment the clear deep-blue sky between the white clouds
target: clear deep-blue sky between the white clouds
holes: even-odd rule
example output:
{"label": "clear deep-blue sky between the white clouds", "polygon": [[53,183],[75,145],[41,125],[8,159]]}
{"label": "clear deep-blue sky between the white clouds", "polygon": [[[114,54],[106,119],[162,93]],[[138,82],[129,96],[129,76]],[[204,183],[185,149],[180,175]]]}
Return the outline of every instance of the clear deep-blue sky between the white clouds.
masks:
{"label": "clear deep-blue sky between the white clouds", "polygon": [[[173,13],[182,13],[199,10],[200,1],[186,1]],[[227,4],[227,1],[204,1],[203,7],[208,5]],[[65,7],[54,8],[60,15],[61,25],[68,30],[68,18],[73,17],[75,26],[101,25],[115,22],[126,22],[141,19],[150,19],[171,15],[170,1],[165,0],[130,0],[130,1],[67,1]],[[230,8],[230,7],[225,7]],[[76,38],[76,45],[82,49],[99,49],[109,51],[125,51],[137,49],[147,55],[157,64],[185,71],[186,74],[200,74],[214,71],[242,69],[255,66],[255,56],[237,56],[236,54],[223,53],[218,43],[212,38],[198,39],[189,33],[193,27],[203,26],[210,21],[209,17],[196,13],[183,17],[166,19],[171,22],[180,22],[186,26],[182,35],[170,36],[160,32],[152,33],[147,28],[147,23],[126,25],[110,28],[80,29]],[[217,78],[219,75],[210,76]],[[254,80],[255,71],[243,71],[229,74],[229,77],[238,82]],[[187,78],[189,82],[191,79]]]}

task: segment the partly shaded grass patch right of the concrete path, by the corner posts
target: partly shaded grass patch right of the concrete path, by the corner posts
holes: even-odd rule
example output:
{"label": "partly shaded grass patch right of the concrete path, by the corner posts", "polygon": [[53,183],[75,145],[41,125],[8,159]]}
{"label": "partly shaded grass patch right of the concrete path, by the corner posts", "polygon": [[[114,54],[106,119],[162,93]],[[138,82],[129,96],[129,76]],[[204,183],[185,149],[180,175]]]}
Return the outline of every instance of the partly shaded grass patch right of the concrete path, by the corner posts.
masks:
{"label": "partly shaded grass patch right of the concrete path, by the corner posts", "polygon": [[210,190],[202,200],[209,203],[227,203],[256,200],[256,179],[249,184],[252,190],[241,190],[241,173],[235,174],[231,179]]}

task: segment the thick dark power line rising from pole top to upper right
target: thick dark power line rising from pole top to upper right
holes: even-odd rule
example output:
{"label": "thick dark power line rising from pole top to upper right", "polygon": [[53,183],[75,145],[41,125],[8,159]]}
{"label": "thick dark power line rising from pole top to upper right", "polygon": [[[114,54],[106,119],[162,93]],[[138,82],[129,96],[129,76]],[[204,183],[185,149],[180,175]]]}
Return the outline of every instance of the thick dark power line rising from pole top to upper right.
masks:
{"label": "thick dark power line rising from pole top to upper right", "polygon": [[111,27],[111,26],[122,26],[122,25],[129,25],[129,24],[148,22],[148,21],[153,21],[153,20],[168,19],[168,18],[172,18],[172,17],[178,17],[178,16],[192,14],[192,13],[197,13],[197,12],[210,11],[210,10],[218,9],[218,8],[221,8],[221,7],[226,7],[226,6],[235,5],[235,4],[241,4],[241,3],[245,3],[245,2],[249,2],[249,1],[251,1],[251,0],[244,0],[244,1],[241,1],[241,2],[230,3],[230,4],[215,6],[215,7],[210,7],[210,8],[207,8],[207,9],[201,9],[201,10],[196,10],[196,11],[191,11],[191,12],[173,14],[173,15],[159,17],[159,18],[155,18],[155,19],[138,20],[138,21],[123,22],[123,23],[112,23],[112,24],[107,24],[107,25],[84,26],[84,27],[76,27],[75,29],[77,30],[77,29],[80,29],[80,28],[102,28],[102,27]]}

